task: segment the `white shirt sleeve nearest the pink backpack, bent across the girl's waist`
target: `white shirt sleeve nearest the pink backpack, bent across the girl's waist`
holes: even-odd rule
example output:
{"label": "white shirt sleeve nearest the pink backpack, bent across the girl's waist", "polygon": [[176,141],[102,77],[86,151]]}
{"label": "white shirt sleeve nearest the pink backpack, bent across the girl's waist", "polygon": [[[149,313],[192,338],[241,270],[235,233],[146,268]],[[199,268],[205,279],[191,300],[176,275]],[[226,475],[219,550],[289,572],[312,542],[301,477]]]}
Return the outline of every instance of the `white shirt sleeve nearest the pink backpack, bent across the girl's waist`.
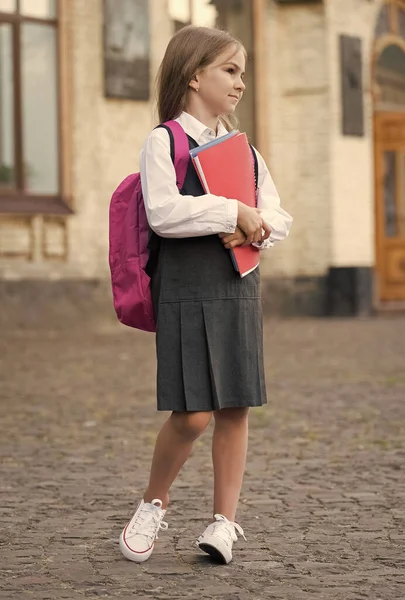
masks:
{"label": "white shirt sleeve nearest the pink backpack, bent across the girl's waist", "polygon": [[161,237],[198,237],[235,231],[236,200],[213,194],[195,197],[179,193],[165,129],[154,129],[146,140],[140,154],[140,173],[148,222]]}

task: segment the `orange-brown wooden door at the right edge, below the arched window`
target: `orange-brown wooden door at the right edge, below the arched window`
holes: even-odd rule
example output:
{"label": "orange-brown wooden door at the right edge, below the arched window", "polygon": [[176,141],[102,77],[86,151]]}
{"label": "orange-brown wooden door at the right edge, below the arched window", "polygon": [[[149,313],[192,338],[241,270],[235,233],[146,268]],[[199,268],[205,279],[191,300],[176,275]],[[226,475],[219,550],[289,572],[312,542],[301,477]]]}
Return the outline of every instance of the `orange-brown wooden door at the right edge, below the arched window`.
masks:
{"label": "orange-brown wooden door at the right edge, below the arched window", "polygon": [[405,112],[375,113],[377,272],[381,301],[405,301]]}

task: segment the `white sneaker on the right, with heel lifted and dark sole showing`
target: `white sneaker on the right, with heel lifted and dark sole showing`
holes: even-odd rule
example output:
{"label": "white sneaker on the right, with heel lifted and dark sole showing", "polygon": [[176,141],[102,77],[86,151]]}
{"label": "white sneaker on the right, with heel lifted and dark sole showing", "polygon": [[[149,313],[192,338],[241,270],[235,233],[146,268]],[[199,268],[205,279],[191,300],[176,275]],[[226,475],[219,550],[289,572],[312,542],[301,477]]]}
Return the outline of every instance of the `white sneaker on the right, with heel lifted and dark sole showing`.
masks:
{"label": "white sneaker on the right, with heel lifted and dark sole showing", "polygon": [[[233,542],[238,539],[236,531],[246,541],[243,529],[237,523],[228,521],[224,515],[214,515],[215,521],[198,538],[196,544],[214,560],[228,564],[232,560]],[[235,531],[236,530],[236,531]]]}

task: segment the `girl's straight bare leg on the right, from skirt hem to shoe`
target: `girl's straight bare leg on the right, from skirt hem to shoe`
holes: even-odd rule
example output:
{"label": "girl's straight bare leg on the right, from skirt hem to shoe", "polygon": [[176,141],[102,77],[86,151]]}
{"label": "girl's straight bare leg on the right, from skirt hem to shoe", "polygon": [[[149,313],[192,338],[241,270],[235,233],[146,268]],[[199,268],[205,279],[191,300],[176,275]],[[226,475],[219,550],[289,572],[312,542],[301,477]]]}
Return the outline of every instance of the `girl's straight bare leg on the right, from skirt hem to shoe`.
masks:
{"label": "girl's straight bare leg on the right, from skirt hem to shoe", "polygon": [[235,520],[248,445],[248,408],[224,408],[214,412],[212,439],[214,465],[214,514]]}

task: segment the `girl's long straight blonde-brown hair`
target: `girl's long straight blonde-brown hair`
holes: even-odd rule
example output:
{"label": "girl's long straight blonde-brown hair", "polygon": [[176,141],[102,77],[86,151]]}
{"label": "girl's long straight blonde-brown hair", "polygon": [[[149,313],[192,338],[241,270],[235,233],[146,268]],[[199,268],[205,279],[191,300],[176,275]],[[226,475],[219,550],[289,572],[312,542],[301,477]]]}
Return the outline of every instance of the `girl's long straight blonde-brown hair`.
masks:
{"label": "girl's long straight blonde-brown hair", "polygon": [[[229,47],[242,50],[243,44],[227,31],[188,25],[170,40],[157,76],[157,108],[160,123],[179,116],[185,108],[189,83]],[[236,124],[233,115],[221,115],[230,130]]]}

